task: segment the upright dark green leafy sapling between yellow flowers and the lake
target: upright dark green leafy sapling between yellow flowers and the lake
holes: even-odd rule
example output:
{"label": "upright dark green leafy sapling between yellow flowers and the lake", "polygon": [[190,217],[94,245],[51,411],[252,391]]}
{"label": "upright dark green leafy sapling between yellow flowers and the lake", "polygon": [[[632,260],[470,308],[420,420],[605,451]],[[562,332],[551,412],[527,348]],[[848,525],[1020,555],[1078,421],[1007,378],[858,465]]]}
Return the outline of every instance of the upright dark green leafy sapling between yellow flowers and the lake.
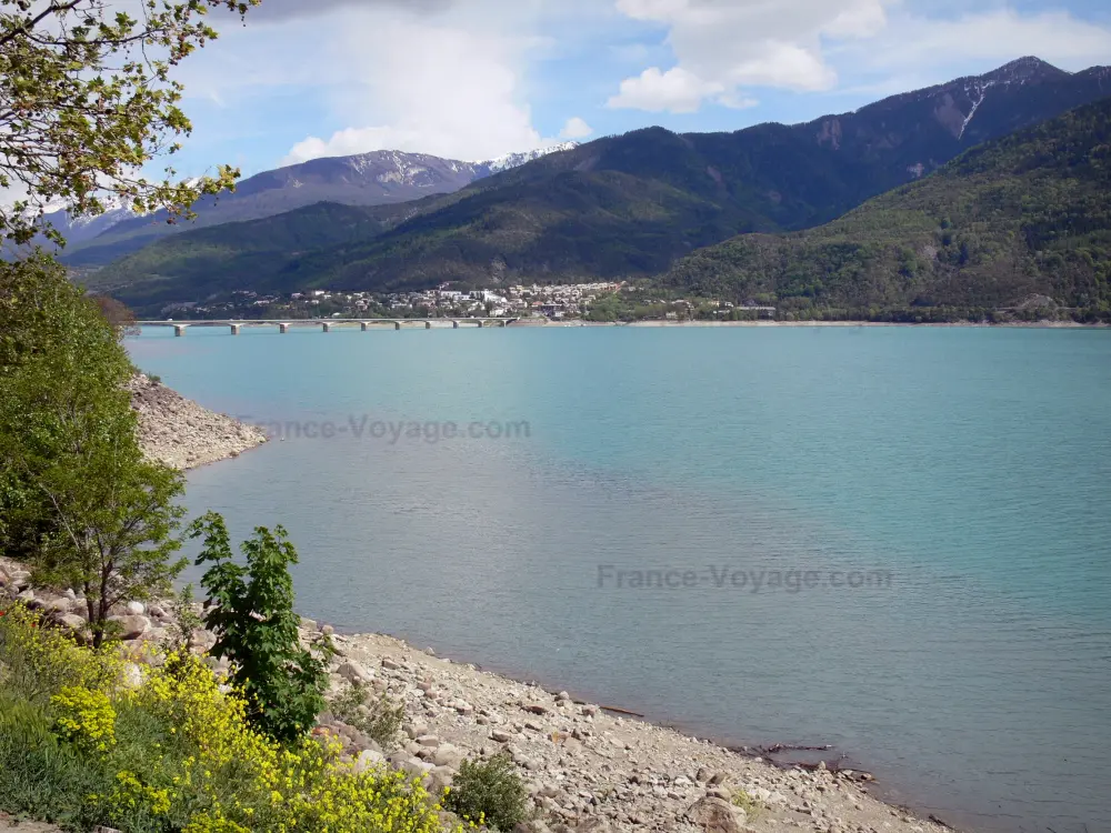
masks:
{"label": "upright dark green leafy sapling between yellow flowers and the lake", "polygon": [[257,528],[240,548],[246,565],[233,561],[228,529],[216,512],[199,519],[190,534],[204,538],[197,565],[211,565],[201,585],[209,596],[204,621],[217,635],[212,655],[231,661],[259,729],[279,741],[303,736],[327,706],[328,666],[299,640],[289,574],[297,550],[286,530]]}

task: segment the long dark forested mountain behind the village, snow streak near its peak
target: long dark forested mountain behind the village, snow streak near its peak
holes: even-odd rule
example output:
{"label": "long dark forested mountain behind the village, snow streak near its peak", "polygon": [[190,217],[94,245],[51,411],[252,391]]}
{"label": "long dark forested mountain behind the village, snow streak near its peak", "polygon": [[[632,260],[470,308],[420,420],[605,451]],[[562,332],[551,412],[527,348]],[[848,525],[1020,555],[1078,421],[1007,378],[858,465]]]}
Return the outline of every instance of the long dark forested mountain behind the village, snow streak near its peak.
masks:
{"label": "long dark forested mountain behind the village, snow streak near its peak", "polygon": [[[805,124],[687,134],[648,128],[399,205],[378,218],[383,231],[358,240],[311,245],[302,237],[296,251],[273,240],[266,271],[220,271],[221,263],[237,262],[243,233],[228,227],[222,260],[210,261],[216,271],[207,283],[382,290],[444,280],[496,285],[659,274],[739,233],[829,222],[984,140],[1108,94],[1109,68],[1069,73],[1025,58]],[[316,222],[312,212],[303,217]],[[124,300],[196,300],[192,233],[172,250],[160,243],[112,263],[102,279]],[[139,288],[150,281],[157,285]]]}

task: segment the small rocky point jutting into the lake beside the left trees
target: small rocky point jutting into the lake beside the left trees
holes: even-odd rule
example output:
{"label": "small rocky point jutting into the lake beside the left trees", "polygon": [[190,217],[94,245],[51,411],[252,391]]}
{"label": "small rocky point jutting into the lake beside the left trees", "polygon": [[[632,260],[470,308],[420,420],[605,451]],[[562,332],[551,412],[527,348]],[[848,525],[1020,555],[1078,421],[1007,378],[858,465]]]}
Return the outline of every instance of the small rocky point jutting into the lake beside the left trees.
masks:
{"label": "small rocky point jutting into the lake beside the left trees", "polygon": [[147,455],[174,469],[197,469],[239,456],[267,441],[262,429],[216,413],[150,377],[128,384],[139,415],[139,441]]}

